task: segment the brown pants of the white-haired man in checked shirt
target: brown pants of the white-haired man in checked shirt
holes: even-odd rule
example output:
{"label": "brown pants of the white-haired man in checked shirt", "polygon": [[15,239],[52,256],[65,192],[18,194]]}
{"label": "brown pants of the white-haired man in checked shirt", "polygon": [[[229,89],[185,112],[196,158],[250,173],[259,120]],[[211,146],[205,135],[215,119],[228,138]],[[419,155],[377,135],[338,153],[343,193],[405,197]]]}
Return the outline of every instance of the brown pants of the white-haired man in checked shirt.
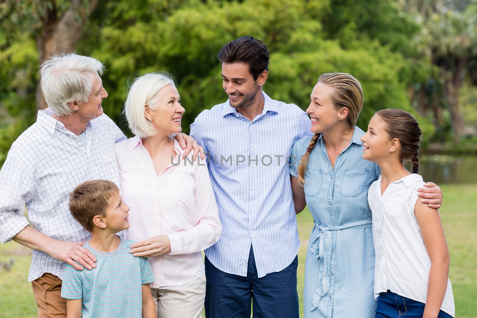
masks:
{"label": "brown pants of the white-haired man in checked shirt", "polygon": [[62,280],[44,273],[31,282],[38,318],[66,318],[66,299],[61,297]]}

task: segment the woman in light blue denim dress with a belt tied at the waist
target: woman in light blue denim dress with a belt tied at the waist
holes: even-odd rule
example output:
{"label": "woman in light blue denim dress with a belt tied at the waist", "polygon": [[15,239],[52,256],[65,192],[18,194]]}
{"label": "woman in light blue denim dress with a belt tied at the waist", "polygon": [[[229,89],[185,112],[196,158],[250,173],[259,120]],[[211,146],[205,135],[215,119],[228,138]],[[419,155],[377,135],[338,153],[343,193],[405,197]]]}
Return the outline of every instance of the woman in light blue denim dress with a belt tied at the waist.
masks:
{"label": "woman in light blue denim dress with a belt tied at the waist", "polygon": [[[362,158],[364,132],[356,126],[362,107],[363,90],[352,75],[322,74],[306,110],[314,135],[292,147],[291,158],[301,158],[290,163],[295,210],[308,205],[314,219],[305,263],[305,318],[375,314],[367,193],[380,169]],[[425,199],[437,198],[427,203],[440,206],[439,187],[421,193]]]}

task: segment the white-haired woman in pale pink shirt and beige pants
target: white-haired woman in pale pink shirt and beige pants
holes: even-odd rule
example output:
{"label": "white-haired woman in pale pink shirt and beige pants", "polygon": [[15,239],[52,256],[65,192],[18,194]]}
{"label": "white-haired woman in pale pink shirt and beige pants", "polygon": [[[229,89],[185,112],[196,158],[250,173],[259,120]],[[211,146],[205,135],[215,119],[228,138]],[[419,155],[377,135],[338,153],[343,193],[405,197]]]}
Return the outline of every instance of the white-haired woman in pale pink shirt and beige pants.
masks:
{"label": "white-haired woman in pale pink shirt and beige pants", "polygon": [[202,315],[206,278],[201,251],[221,232],[205,161],[183,159],[171,134],[181,132],[185,110],[167,73],[145,74],[132,84],[124,113],[135,137],[115,145],[127,238],[134,256],[148,257],[151,291],[161,318]]}

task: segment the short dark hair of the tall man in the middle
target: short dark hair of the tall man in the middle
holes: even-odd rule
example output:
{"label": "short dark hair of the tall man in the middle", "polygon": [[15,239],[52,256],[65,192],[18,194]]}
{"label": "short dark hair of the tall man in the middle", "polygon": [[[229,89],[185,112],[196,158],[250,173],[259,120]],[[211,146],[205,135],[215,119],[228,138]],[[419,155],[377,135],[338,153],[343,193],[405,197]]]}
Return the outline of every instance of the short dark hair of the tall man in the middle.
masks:
{"label": "short dark hair of the tall man in the middle", "polygon": [[242,36],[222,46],[218,53],[218,60],[222,63],[249,64],[249,71],[253,80],[256,81],[263,71],[268,71],[270,55],[267,46],[262,41],[251,36]]}

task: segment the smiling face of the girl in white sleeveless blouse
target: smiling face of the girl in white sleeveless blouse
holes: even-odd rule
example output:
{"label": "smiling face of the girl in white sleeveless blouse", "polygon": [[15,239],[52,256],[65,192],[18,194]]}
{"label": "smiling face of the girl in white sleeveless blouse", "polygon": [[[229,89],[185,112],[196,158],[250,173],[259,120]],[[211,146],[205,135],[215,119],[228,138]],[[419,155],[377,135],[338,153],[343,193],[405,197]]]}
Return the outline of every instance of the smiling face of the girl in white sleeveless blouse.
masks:
{"label": "smiling face of the girl in white sleeveless blouse", "polygon": [[389,160],[390,154],[395,156],[398,153],[395,141],[393,143],[384,128],[381,117],[374,115],[369,121],[368,131],[361,137],[363,159],[380,164],[384,160]]}

